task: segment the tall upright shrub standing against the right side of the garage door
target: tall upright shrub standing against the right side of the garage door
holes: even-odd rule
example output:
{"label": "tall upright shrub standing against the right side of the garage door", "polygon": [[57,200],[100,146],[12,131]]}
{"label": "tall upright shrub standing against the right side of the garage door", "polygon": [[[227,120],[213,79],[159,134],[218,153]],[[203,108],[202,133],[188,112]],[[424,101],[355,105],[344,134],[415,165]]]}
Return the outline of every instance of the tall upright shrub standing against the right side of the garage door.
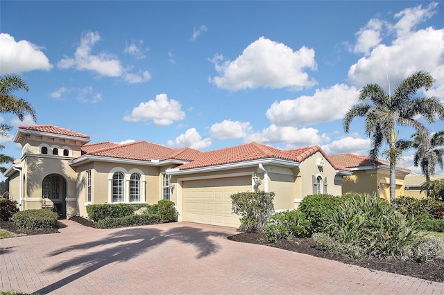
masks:
{"label": "tall upright shrub standing against the right side of the garage door", "polygon": [[262,231],[273,212],[275,193],[243,192],[230,197],[233,213],[241,216],[241,227],[247,232]]}

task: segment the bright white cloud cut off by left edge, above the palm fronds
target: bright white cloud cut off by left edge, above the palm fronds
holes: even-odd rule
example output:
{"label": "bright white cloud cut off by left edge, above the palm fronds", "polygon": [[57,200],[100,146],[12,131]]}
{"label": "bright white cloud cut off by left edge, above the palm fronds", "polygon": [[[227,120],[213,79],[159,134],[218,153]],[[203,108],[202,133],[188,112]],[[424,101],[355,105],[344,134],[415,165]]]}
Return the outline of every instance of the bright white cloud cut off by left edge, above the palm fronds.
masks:
{"label": "bright white cloud cut off by left edge, above the palm fronds", "polygon": [[53,65],[40,48],[31,42],[21,40],[16,42],[14,37],[0,33],[0,74],[19,74],[26,71],[49,71]]}

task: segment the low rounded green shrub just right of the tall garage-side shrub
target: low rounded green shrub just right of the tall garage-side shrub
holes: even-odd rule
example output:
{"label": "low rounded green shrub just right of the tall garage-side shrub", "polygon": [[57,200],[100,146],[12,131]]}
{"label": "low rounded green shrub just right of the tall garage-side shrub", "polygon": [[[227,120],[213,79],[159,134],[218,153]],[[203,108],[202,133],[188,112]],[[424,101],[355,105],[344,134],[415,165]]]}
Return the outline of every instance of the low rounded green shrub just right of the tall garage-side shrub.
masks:
{"label": "low rounded green shrub just right of the tall garage-side shrub", "polygon": [[268,242],[282,238],[306,237],[310,233],[311,223],[305,214],[296,210],[275,213],[268,217],[264,234]]}

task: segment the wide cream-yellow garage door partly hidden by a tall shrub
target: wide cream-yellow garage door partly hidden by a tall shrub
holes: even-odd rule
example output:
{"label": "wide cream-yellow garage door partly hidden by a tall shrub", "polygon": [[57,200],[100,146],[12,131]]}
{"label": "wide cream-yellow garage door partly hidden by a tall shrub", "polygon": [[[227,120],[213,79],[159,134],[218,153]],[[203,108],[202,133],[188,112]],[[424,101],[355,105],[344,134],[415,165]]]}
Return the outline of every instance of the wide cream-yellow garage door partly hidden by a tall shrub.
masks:
{"label": "wide cream-yellow garage door partly hidden by a tall shrub", "polygon": [[182,220],[238,227],[230,195],[251,191],[251,177],[226,177],[182,182]]}

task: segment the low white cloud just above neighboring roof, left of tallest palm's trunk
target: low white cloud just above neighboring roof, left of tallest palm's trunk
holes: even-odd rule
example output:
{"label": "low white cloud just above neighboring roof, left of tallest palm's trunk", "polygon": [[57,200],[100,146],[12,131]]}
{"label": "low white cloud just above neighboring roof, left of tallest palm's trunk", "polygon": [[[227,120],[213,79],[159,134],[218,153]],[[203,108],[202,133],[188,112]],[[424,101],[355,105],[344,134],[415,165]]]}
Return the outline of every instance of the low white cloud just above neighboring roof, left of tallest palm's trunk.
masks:
{"label": "low white cloud just above neighboring roof, left of tallest palm's trunk", "polygon": [[356,136],[346,136],[337,141],[332,141],[327,145],[322,145],[326,154],[368,154],[370,150],[370,138],[359,138]]}

